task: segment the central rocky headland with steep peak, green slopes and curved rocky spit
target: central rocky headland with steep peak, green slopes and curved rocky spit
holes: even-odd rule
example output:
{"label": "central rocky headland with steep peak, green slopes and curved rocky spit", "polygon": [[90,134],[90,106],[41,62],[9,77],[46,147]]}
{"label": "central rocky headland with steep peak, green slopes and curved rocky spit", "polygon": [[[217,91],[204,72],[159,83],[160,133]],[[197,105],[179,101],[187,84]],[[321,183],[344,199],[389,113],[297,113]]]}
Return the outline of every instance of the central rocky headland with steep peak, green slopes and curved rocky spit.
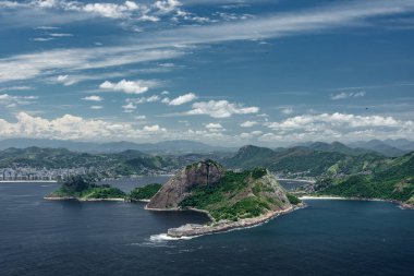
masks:
{"label": "central rocky headland with steep peak, green slopes and curved rocky spit", "polygon": [[180,238],[251,227],[301,206],[264,168],[243,172],[227,170],[212,160],[186,166],[149,201],[150,211],[198,211],[211,221],[168,230]]}

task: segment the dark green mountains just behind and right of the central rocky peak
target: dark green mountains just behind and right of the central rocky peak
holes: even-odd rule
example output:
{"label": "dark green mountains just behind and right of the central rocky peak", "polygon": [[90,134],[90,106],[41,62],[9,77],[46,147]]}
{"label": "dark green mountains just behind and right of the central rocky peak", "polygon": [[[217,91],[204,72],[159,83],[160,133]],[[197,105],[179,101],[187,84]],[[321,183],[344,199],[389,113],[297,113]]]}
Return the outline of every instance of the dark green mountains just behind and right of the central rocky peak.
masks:
{"label": "dark green mountains just behind and right of the central rocky peak", "polygon": [[266,167],[295,177],[350,175],[369,170],[387,157],[372,151],[351,148],[339,142],[313,143],[307,146],[278,148],[244,146],[221,163],[231,168]]}

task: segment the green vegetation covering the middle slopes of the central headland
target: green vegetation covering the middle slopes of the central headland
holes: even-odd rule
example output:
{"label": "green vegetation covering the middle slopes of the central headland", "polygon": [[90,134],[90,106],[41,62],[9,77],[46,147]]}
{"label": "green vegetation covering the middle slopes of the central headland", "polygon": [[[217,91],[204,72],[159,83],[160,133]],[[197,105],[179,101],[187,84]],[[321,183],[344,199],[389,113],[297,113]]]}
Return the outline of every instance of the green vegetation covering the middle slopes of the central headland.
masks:
{"label": "green vegetation covering the middle slopes of the central headland", "polygon": [[216,220],[238,220],[259,216],[275,206],[282,208],[287,200],[275,195],[281,188],[265,180],[267,170],[263,168],[227,171],[218,183],[193,189],[191,196],[180,206],[206,209]]}

